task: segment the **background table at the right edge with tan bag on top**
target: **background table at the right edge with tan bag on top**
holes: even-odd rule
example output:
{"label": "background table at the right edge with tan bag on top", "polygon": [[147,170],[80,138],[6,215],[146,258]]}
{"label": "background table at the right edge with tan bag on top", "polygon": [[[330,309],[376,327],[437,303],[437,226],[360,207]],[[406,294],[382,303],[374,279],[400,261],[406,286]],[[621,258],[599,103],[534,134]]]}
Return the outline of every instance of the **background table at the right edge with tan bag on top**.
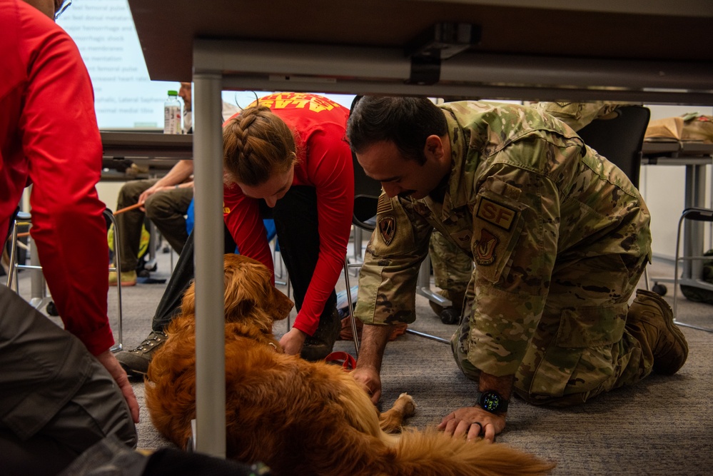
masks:
{"label": "background table at the right edge with tan bag on top", "polygon": [[[699,142],[644,142],[642,165],[685,166],[684,209],[708,208],[706,198],[706,166],[713,165],[713,144]],[[686,221],[683,229],[684,257],[700,256],[704,247],[704,224]],[[703,263],[684,260],[679,283],[702,287]],[[673,278],[652,278],[662,283],[672,283]],[[707,284],[707,288],[710,286]]]}

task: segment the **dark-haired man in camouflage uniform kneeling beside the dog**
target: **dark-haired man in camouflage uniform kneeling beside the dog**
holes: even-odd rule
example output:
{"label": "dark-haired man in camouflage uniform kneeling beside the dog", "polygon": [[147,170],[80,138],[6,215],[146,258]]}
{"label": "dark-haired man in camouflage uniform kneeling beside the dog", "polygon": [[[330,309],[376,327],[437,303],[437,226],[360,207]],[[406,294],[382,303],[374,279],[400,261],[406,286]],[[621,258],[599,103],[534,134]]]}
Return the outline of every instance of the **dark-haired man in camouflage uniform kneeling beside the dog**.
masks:
{"label": "dark-haired man in camouflage uniform kneeling beside the dog", "polygon": [[[665,301],[639,290],[628,304],[651,254],[646,205],[570,127],[524,106],[367,96],[347,133],[384,189],[360,274],[366,325],[353,372],[375,402],[385,336],[415,320],[433,228],[476,263],[452,348],[480,393],[572,405],[684,364]],[[483,406],[440,428],[492,440],[505,412]]]}

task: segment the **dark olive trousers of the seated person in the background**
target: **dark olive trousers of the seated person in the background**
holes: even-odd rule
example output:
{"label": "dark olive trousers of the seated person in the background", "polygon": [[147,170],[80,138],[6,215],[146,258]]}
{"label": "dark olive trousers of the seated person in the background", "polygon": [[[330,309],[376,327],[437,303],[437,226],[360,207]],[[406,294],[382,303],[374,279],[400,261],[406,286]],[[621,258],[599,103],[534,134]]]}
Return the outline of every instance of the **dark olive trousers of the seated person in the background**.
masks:
{"label": "dark olive trousers of the seated person in the background", "polygon": [[[126,208],[138,203],[138,197],[147,188],[158,182],[158,178],[149,180],[135,180],[126,182],[119,191],[116,200],[116,209]],[[133,210],[119,213],[116,216],[116,225],[121,233],[121,271],[132,271],[138,265],[138,249],[141,243],[141,226],[143,218],[146,216],[166,238],[171,248],[176,253],[181,254],[183,245],[188,239],[186,231],[186,212],[193,199],[193,188],[171,188],[171,190],[153,193],[144,208],[146,213],[135,208]]]}

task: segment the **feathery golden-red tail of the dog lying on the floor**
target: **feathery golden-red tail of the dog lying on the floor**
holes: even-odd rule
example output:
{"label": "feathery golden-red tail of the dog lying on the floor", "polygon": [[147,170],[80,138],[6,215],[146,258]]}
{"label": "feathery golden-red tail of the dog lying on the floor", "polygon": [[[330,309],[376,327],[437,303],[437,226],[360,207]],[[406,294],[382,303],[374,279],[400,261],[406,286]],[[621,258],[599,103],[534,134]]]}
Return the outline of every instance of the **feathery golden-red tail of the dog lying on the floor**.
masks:
{"label": "feathery golden-red tail of the dog lying on the floor", "polygon": [[545,462],[502,443],[467,442],[431,428],[405,429],[386,462],[388,475],[535,476],[546,475],[553,463]]}

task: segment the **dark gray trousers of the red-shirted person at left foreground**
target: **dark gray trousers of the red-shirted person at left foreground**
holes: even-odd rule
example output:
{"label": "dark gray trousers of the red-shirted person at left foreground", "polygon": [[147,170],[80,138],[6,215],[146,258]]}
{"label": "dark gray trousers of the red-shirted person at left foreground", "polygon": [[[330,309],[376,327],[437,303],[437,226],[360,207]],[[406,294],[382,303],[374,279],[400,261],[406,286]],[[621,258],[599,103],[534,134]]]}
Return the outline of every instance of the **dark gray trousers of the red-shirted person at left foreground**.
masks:
{"label": "dark gray trousers of the red-shirted person at left foreground", "polygon": [[0,472],[56,475],[109,435],[136,447],[111,375],[79,339],[0,285]]}

